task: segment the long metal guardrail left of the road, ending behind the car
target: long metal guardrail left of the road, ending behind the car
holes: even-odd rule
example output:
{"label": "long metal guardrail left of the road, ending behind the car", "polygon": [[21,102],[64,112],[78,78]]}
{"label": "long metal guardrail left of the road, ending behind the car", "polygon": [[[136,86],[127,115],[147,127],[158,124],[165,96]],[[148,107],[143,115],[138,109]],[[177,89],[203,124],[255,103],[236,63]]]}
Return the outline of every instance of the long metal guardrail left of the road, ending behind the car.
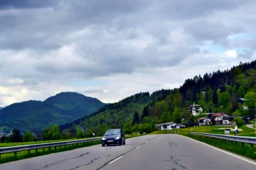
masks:
{"label": "long metal guardrail left of the road, ending behind the car", "polygon": [[11,147],[0,147],[0,159],[1,154],[11,153],[14,152],[14,156],[17,156],[17,152],[19,151],[28,151],[30,153],[30,150],[36,150],[36,153],[38,152],[38,149],[40,148],[49,148],[56,147],[57,146],[67,146],[67,145],[73,145],[78,143],[87,143],[87,142],[93,142],[93,141],[101,141],[101,138],[90,138],[90,139],[79,139],[74,141],[63,141],[63,142],[52,142],[52,143],[40,143],[40,144],[34,144],[34,145],[20,145],[20,146],[11,146]]}

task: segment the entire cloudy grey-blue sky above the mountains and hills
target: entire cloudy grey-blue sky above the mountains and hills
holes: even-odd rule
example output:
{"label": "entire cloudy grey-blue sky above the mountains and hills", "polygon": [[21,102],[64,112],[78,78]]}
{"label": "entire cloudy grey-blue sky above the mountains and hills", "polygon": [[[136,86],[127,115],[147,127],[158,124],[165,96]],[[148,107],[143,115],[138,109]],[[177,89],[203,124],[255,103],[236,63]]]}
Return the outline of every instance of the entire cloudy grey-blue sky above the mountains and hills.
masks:
{"label": "entire cloudy grey-blue sky above the mountains and hills", "polygon": [[256,59],[254,0],[1,0],[0,107],[112,103]]}

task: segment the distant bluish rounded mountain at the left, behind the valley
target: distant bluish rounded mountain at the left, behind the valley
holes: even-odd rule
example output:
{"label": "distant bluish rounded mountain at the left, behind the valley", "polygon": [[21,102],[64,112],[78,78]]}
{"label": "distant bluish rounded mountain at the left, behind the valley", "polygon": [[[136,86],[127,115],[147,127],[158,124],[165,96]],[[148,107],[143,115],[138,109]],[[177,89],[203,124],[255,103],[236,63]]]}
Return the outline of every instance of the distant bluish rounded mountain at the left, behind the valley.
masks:
{"label": "distant bluish rounded mountain at the left, behind the valley", "polygon": [[76,92],[61,92],[45,101],[14,103],[0,110],[0,126],[20,131],[40,131],[47,125],[65,124],[88,115],[106,104]]}

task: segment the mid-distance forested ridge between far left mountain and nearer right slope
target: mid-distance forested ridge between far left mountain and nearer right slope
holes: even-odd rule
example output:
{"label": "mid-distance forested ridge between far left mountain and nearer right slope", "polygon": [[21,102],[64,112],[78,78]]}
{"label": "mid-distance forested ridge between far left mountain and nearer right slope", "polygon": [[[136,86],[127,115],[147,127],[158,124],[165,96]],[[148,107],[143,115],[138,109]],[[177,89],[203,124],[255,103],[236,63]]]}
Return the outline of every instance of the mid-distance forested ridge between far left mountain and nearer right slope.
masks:
{"label": "mid-distance forested ridge between far left mountain and nearer right slope", "polygon": [[[141,92],[126,97],[126,99],[117,103],[106,105],[97,112],[82,117],[72,123],[61,125],[60,129],[69,129],[72,131],[75,126],[80,126],[81,128],[94,127],[94,131],[97,131],[95,128],[98,127],[98,129],[102,130],[101,133],[104,133],[103,131],[110,125],[113,128],[120,128],[126,121],[133,120],[134,113],[139,119],[139,113],[143,112],[144,108],[165,99],[171,92],[172,90],[159,90],[153,92],[151,95],[149,92]],[[139,120],[137,121],[139,122]]]}

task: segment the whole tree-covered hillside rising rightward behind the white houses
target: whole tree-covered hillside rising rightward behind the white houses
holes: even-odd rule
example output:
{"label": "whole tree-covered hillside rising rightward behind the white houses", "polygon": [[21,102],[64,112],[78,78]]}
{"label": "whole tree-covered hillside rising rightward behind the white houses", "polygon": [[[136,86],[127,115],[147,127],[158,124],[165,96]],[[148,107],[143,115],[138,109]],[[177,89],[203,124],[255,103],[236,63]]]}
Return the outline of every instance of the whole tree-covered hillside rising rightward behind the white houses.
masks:
{"label": "whole tree-covered hillside rising rightward behind the white houses", "polygon": [[[204,113],[222,112],[254,116],[256,86],[256,61],[240,63],[230,70],[217,70],[185,80],[175,90],[161,90],[153,94],[140,93],[110,104],[100,111],[85,116],[73,123],[61,125],[65,132],[85,129],[98,135],[108,128],[122,128],[131,131],[151,131],[156,123],[174,121],[187,126],[196,123],[197,118],[188,112],[193,103],[203,106]],[[168,79],[168,77],[167,77]],[[237,99],[245,98],[248,109],[244,110]],[[253,101],[246,103],[246,101]]]}

